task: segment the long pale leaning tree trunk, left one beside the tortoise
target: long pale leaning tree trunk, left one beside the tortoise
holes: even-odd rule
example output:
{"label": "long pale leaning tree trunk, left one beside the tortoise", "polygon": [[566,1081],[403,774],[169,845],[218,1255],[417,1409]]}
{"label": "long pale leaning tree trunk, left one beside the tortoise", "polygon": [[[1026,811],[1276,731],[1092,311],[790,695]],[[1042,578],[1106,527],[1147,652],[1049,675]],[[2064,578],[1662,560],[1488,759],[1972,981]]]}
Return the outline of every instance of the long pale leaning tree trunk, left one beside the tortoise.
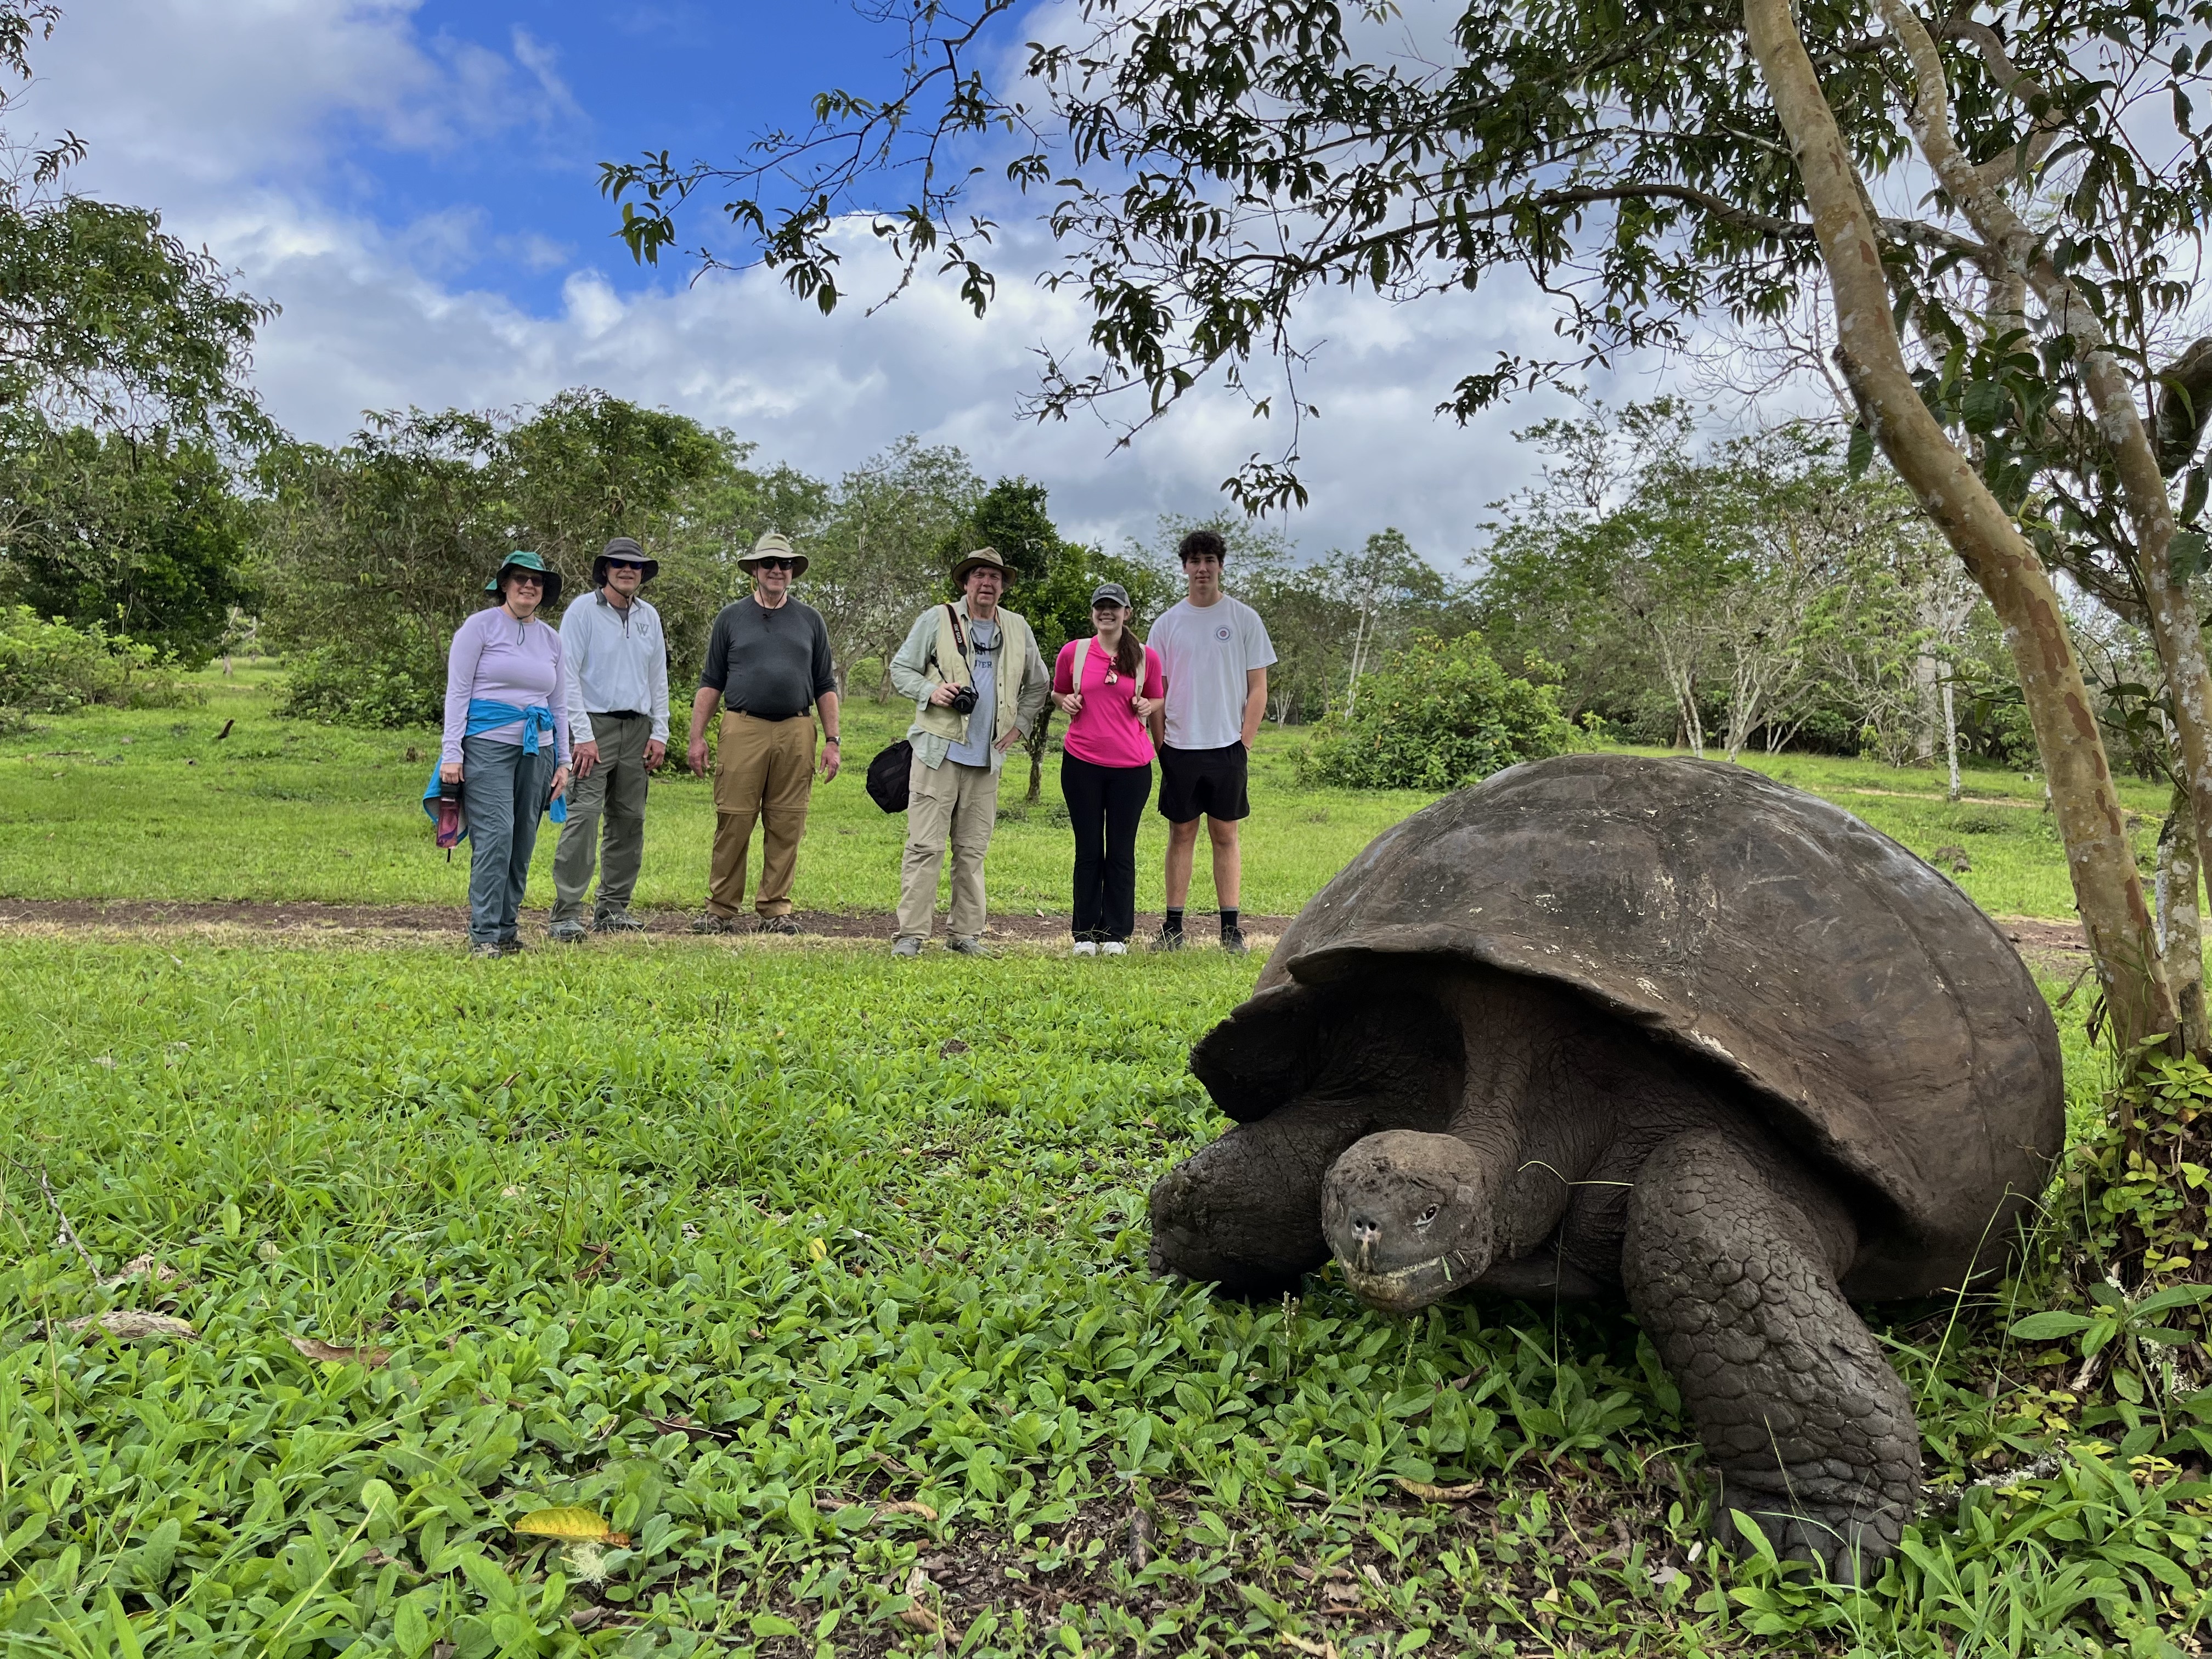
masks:
{"label": "long pale leaning tree trunk, left one beside the tortoise", "polygon": [[2126,1053],[2143,1037],[2170,1037],[2179,1026],[2174,998],[2051,573],[1920,400],[1898,343],[1865,181],[1836,131],[1790,0],[1745,0],[1743,15],[1812,206],[1836,303],[1838,365],[1874,440],[2004,626],[2112,1040]]}

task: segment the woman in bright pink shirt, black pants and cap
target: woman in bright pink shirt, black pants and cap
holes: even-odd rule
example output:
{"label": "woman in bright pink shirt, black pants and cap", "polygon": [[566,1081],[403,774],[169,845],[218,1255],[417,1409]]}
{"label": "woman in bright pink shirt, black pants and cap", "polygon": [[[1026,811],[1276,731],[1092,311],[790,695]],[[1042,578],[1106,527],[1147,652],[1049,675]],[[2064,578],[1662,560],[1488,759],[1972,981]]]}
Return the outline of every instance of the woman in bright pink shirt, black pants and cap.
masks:
{"label": "woman in bright pink shirt, black pants and cap", "polygon": [[1068,717],[1060,794],[1075,825],[1075,953],[1124,956],[1137,927],[1137,823],[1152,796],[1146,721],[1168,695],[1159,653],[1128,630],[1128,588],[1091,595],[1093,639],[1071,639],[1053,670],[1053,701]]}

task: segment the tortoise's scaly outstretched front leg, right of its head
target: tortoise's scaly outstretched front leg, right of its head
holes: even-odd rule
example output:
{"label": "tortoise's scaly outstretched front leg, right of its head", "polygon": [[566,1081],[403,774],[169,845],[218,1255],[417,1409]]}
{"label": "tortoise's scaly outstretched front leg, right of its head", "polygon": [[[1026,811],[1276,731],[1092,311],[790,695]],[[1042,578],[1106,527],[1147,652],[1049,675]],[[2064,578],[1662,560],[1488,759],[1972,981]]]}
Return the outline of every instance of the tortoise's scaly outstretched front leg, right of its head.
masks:
{"label": "tortoise's scaly outstretched front leg, right of its head", "polygon": [[1741,1509],[1843,1582],[1880,1566],[1920,1495],[1913,1402],[1836,1287],[1854,1248],[1809,1181],[1697,1130],[1637,1175],[1621,1250],[1628,1305],[1721,1475],[1721,1537]]}

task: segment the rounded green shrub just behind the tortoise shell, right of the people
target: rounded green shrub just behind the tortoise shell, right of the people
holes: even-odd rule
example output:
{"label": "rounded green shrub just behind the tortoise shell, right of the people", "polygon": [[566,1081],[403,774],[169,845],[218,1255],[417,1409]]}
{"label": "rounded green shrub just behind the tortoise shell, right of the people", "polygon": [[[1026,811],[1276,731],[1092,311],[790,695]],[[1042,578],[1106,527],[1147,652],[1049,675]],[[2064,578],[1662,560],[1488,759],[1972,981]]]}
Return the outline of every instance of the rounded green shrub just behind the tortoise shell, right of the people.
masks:
{"label": "rounded green shrub just behind the tortoise shell, right of the people", "polygon": [[1352,719],[1329,714],[1298,757],[1301,783],[1462,790],[1506,765],[1575,748],[1551,686],[1513,679],[1482,635],[1416,635],[1360,681]]}

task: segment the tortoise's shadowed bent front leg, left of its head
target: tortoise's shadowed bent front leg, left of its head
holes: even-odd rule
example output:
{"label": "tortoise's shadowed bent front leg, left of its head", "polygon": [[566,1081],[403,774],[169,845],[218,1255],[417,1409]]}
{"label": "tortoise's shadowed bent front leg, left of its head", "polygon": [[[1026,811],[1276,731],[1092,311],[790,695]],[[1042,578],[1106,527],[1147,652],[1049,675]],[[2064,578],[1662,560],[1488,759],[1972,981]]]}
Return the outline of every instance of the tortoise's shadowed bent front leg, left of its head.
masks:
{"label": "tortoise's shadowed bent front leg, left of its head", "polygon": [[1305,1102],[1239,1124],[1152,1183],[1152,1272],[1281,1296],[1329,1259],[1321,1179],[1369,1115]]}

